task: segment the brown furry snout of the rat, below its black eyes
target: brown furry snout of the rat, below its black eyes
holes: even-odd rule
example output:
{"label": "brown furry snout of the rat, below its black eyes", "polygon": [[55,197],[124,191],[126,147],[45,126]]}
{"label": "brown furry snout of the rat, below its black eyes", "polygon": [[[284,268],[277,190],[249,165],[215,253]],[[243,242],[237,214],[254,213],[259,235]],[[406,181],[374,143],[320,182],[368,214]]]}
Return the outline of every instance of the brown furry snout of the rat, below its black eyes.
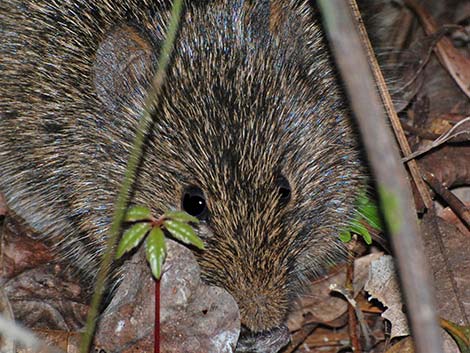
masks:
{"label": "brown furry snout of the rat, below its black eyes", "polygon": [[233,296],[242,325],[254,334],[282,326],[292,297],[288,265],[292,257],[283,241],[285,233],[277,222],[263,222],[251,214],[242,225],[227,223],[228,216],[217,219],[210,229],[199,228],[208,239],[199,257],[204,280]]}

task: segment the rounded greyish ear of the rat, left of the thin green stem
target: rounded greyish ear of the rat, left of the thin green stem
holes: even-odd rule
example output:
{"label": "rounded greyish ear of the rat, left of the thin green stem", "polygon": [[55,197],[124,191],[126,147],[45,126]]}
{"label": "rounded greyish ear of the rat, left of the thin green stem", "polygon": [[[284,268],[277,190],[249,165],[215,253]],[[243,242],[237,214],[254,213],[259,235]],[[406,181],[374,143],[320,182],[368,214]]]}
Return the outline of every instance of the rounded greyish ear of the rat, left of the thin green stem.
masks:
{"label": "rounded greyish ear of the rat, left of the thin green stem", "polygon": [[117,111],[143,101],[155,53],[158,48],[128,25],[114,29],[101,41],[93,63],[93,83],[106,109]]}

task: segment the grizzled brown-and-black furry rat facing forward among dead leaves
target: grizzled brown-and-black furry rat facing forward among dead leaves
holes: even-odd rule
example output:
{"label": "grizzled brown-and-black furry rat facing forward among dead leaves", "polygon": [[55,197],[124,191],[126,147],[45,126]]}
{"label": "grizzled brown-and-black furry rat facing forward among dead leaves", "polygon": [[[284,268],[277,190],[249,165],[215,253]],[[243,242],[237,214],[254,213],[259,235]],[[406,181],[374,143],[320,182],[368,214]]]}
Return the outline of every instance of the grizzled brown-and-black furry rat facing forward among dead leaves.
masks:
{"label": "grizzled brown-and-black furry rat facing forward among dead leaves", "polygon": [[[281,327],[364,184],[314,5],[187,1],[132,202],[198,217],[203,278],[243,325]],[[0,187],[12,212],[95,275],[145,92],[163,0],[4,0]]]}

